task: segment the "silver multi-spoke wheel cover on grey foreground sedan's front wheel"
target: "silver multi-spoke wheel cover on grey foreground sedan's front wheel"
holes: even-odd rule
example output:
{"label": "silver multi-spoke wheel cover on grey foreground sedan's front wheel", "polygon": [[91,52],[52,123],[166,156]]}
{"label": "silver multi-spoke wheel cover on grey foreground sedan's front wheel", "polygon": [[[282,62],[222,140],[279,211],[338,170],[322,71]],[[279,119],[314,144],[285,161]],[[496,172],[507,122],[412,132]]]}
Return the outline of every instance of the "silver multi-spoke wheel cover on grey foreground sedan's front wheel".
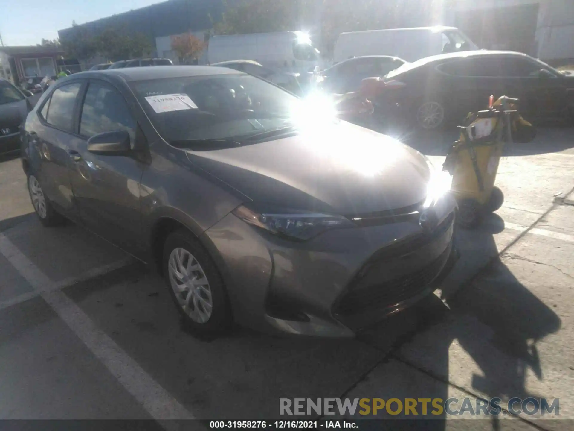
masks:
{"label": "silver multi-spoke wheel cover on grey foreground sedan's front wheel", "polygon": [[194,322],[204,324],[213,310],[210,283],[201,265],[184,248],[169,255],[169,281],[177,302]]}

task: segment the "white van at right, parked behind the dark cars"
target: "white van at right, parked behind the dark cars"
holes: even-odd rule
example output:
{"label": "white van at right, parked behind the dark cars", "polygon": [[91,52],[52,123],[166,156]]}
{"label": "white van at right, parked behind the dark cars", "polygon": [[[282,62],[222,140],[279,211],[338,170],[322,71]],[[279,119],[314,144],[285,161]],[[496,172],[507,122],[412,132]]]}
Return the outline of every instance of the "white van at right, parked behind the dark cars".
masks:
{"label": "white van at right, parked behind the dark cars", "polygon": [[478,49],[456,27],[416,27],[341,33],[335,44],[336,63],[365,55],[389,55],[416,61],[445,52]]}

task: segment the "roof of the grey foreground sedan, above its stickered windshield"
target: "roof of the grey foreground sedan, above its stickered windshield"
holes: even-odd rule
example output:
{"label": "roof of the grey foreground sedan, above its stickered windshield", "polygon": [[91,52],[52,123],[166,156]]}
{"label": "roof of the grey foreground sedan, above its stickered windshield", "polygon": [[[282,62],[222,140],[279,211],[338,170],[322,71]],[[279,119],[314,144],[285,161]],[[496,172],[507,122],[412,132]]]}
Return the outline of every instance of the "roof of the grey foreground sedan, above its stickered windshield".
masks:
{"label": "roof of the grey foreground sedan, above its stickered windshield", "polygon": [[[68,78],[121,78],[128,82],[184,76],[242,74],[236,70],[214,66],[144,66],[123,69],[91,70],[70,75]],[[64,78],[65,79],[65,78]],[[63,80],[64,80],[63,79]],[[66,79],[67,80],[67,79]]]}

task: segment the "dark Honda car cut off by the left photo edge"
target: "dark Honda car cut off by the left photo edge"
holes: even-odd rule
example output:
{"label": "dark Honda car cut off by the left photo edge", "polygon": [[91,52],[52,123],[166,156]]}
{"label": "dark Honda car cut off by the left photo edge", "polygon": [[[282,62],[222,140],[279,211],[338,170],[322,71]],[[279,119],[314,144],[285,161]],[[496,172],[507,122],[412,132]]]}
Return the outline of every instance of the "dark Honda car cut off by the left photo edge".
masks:
{"label": "dark Honda car cut off by the left photo edge", "polygon": [[20,125],[30,108],[24,93],[0,78],[0,154],[20,148]]}

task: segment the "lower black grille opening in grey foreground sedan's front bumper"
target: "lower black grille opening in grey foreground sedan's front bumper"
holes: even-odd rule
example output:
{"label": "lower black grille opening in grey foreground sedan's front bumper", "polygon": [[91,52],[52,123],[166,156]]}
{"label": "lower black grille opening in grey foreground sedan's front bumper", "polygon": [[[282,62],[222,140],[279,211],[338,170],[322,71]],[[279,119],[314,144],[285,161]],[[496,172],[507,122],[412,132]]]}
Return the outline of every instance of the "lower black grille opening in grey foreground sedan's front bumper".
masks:
{"label": "lower black grille opening in grey foreground sedan's front bumper", "polygon": [[451,253],[451,245],[426,267],[382,284],[349,291],[333,310],[338,315],[352,315],[361,311],[384,309],[422,293],[440,274]]}

